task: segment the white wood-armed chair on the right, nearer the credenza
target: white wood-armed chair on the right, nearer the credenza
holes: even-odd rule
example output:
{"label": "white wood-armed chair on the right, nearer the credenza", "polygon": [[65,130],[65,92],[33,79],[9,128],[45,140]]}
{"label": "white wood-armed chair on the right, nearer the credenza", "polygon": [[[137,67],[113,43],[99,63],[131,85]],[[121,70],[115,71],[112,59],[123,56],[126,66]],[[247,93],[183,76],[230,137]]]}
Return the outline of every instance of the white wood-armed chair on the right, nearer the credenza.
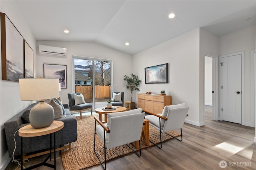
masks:
{"label": "white wood-armed chair on the right, nearer the credenza", "polygon": [[189,107],[186,107],[186,104],[177,104],[164,106],[162,114],[156,114],[150,111],[143,110],[145,113],[150,114],[145,116],[145,119],[149,120],[149,124],[160,131],[160,147],[153,143],[152,141],[150,142],[156,145],[159,149],[161,149],[162,133],[166,133],[167,135],[172,136],[167,132],[176,129],[180,129],[181,139],[178,139],[176,137],[174,138],[178,139],[179,141],[182,141],[182,127],[186,119],[186,116],[188,116],[188,109]]}

